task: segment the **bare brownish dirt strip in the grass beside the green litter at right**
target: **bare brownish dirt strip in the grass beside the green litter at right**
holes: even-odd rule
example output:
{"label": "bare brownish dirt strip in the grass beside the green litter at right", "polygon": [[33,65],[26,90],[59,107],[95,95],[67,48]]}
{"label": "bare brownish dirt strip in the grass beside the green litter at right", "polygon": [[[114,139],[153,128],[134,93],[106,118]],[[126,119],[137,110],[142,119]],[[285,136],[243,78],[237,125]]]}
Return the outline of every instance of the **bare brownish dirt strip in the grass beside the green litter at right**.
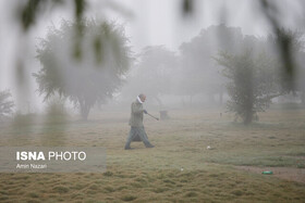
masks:
{"label": "bare brownish dirt strip in the grass beside the green litter at right", "polygon": [[[273,172],[278,178],[305,183],[305,168],[291,168],[291,167],[255,167],[255,166],[235,166],[237,169],[261,174],[265,170]],[[261,175],[267,176],[267,175]]]}

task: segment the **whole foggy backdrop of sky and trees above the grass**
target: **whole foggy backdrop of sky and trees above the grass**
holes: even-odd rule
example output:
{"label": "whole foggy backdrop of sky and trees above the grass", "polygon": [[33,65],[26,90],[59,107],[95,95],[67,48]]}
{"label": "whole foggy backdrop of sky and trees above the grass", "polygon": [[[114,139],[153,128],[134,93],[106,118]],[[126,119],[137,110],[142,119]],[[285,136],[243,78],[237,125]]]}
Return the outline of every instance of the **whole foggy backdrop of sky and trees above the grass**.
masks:
{"label": "whole foggy backdrop of sky and trees above the grass", "polygon": [[[52,102],[83,117],[129,111],[138,93],[154,111],[240,114],[234,97],[243,91],[254,92],[254,114],[271,101],[304,103],[303,1],[0,3],[0,90],[11,92],[10,114],[44,113]],[[233,68],[241,63],[249,72]]]}

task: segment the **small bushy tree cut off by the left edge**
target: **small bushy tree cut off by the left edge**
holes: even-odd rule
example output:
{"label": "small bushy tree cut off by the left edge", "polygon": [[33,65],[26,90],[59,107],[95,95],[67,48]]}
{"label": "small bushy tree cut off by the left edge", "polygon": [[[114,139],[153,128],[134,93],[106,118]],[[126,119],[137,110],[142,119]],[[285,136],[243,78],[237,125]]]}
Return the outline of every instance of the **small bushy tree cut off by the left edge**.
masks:
{"label": "small bushy tree cut off by the left edge", "polygon": [[9,90],[0,91],[0,122],[13,112],[14,102]]}

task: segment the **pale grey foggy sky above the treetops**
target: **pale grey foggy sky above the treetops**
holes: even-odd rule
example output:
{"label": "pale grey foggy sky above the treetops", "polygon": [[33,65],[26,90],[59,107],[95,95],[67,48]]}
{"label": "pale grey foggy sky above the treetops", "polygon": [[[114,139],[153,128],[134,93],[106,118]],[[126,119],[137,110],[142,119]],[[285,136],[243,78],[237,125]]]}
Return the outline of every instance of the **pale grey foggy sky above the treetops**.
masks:
{"label": "pale grey foggy sky above the treetops", "polygon": [[[186,18],[182,17],[180,0],[117,0],[114,1],[117,4],[110,3],[112,1],[98,0],[88,2],[90,7],[85,16],[106,17],[123,24],[134,52],[139,52],[146,46],[159,45],[176,51],[182,42],[190,41],[203,28],[220,23],[241,27],[244,35],[266,36],[271,33],[258,10],[256,0],[197,0],[194,16]],[[277,2],[281,7],[282,25],[303,30],[304,23],[301,22],[304,21],[304,13],[300,7],[301,1]],[[23,37],[13,21],[13,11],[17,3],[21,1],[0,1],[0,90],[11,89],[13,94],[16,93],[13,74],[16,56],[20,54],[24,58],[29,74],[37,72],[40,66],[34,58],[38,38],[45,37],[51,23],[59,27],[61,18],[73,20],[69,7],[54,10],[52,13],[44,13],[27,37]],[[107,10],[101,9],[105,5]],[[37,100],[38,96],[34,92],[36,84],[33,78],[30,79],[29,88],[33,92],[29,97]]]}

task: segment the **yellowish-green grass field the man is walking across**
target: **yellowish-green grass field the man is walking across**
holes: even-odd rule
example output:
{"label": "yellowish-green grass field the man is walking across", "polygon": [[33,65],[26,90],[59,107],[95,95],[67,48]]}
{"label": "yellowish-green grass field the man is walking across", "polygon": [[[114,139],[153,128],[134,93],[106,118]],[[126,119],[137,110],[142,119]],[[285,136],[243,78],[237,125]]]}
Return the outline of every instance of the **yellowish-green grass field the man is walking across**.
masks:
{"label": "yellowish-green grass field the man is walking across", "polygon": [[145,118],[156,148],[129,151],[129,113],[1,127],[1,145],[105,147],[107,172],[2,173],[0,202],[304,202],[304,110],[270,110],[249,126],[215,110],[169,114]]}

